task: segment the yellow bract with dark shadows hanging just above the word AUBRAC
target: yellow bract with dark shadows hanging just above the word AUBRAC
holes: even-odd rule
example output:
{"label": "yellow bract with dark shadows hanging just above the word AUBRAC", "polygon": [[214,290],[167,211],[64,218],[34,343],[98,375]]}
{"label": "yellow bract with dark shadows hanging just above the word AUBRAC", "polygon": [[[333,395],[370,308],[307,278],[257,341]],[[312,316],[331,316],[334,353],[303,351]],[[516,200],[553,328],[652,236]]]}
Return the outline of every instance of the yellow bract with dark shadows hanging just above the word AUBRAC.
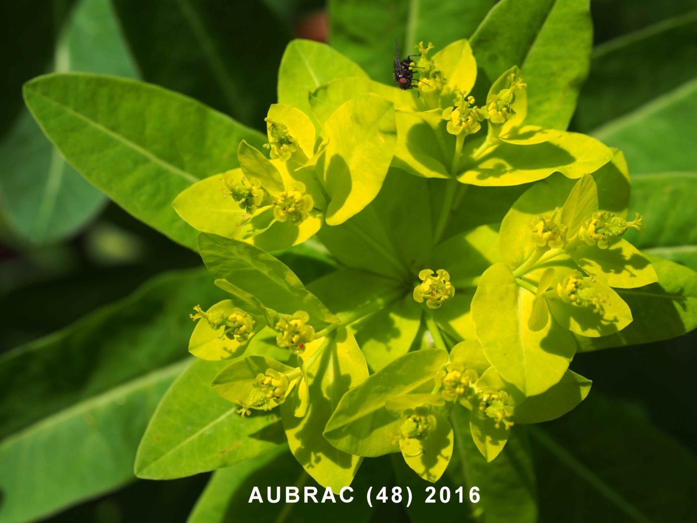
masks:
{"label": "yellow bract with dark shadows hanging just above the word AUBRAC", "polygon": [[309,362],[314,351],[323,351],[303,366],[309,386],[307,414],[298,418],[290,404],[283,404],[281,416],[296,460],[317,483],[339,492],[351,484],[362,458],[332,446],[322,432],[346,391],[367,379],[368,367],[353,335],[345,328],[337,329],[326,343],[315,340],[302,354],[302,361]]}

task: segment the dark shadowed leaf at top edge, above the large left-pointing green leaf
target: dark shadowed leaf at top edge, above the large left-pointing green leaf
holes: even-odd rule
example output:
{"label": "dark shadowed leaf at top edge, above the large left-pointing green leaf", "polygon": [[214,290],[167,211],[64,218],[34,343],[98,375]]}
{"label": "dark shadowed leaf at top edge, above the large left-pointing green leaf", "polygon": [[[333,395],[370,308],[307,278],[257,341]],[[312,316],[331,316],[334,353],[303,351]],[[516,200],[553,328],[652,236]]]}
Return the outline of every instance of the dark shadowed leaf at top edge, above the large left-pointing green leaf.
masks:
{"label": "dark shadowed leaf at top edge, above the large left-pointing green leaf", "polygon": [[263,126],[290,38],[265,3],[116,0],[114,6],[144,79]]}

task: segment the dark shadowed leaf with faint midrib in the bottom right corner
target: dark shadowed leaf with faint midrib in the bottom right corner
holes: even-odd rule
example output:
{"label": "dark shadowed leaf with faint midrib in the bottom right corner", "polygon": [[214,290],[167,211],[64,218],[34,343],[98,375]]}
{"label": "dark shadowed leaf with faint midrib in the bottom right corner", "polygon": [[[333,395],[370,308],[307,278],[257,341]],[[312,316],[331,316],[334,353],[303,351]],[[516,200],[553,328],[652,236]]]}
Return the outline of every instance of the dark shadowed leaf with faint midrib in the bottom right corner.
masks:
{"label": "dark shadowed leaf with faint midrib in the bottom right corner", "polygon": [[[537,481],[545,492],[540,521],[689,521],[687,484],[694,453],[654,427],[636,407],[592,393],[563,420],[529,427]],[[670,456],[667,459],[666,456]],[[647,475],[653,480],[647,483]],[[576,503],[583,499],[583,503]]]}

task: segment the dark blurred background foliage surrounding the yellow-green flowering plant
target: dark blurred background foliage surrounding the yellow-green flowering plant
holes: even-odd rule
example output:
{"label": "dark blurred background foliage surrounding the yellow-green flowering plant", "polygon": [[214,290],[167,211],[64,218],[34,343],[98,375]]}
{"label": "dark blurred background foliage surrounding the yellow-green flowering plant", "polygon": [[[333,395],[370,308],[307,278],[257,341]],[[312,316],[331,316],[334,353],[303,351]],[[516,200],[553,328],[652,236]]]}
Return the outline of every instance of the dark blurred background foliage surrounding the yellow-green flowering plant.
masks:
{"label": "dark blurred background foliage surrounding the yellow-green flowering plant", "polygon": [[[197,268],[197,255],[107,202],[61,159],[24,108],[22,83],[67,70],[136,77],[262,129],[291,38],[328,41],[389,83],[395,39],[406,55],[418,40],[440,47],[468,38],[495,3],[2,3],[0,522],[186,520],[208,475],[136,480],[132,462],[155,405],[181,372],[188,308],[212,303],[218,292]],[[590,3],[595,50],[571,129],[625,151],[634,185],[631,209],[649,224],[631,241],[697,269],[697,0]],[[302,251],[281,257],[305,282],[330,268]],[[510,460],[502,470],[520,476],[516,488],[506,487],[507,476],[492,482],[476,462],[452,467],[443,481],[481,483],[482,495],[496,492],[498,505],[515,510],[516,521],[534,521],[536,514],[543,522],[694,521],[694,511],[684,510],[697,475],[696,345],[692,333],[579,354],[574,370],[592,377],[593,393],[571,414],[521,433],[499,458]],[[81,439],[84,427],[95,423],[107,427],[109,438]],[[526,448],[533,462],[526,462]],[[254,466],[297,476],[300,467],[278,461],[287,455],[264,455]],[[389,461],[368,460],[364,467],[381,472],[385,485],[408,484],[412,478],[401,476],[398,466],[393,474]],[[250,467],[245,462],[216,473],[192,521],[206,521],[206,503],[230,478],[237,483],[228,510],[236,506],[235,492],[263,486]],[[362,472],[359,482],[369,476]],[[287,484],[298,480],[291,476]],[[10,499],[15,494],[21,502]],[[286,517],[321,516],[297,510]],[[442,510],[447,515],[454,508]],[[511,521],[500,508],[485,510],[487,523]],[[262,517],[253,511],[245,516]],[[418,507],[390,508],[388,515],[335,510],[331,517],[420,522],[432,513]]]}

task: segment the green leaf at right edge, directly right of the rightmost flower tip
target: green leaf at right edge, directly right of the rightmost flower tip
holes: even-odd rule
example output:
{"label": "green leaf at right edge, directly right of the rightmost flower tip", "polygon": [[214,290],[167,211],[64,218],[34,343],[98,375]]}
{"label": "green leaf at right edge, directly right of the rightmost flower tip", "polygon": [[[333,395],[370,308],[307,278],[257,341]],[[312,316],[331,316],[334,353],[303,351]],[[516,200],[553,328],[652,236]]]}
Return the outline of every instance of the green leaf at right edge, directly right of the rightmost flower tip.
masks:
{"label": "green leaf at right edge, directly right of the rightmost flower tip", "polygon": [[627,241],[648,254],[677,261],[697,270],[697,229],[694,202],[697,173],[635,176],[629,215],[640,213],[647,227],[628,231]]}

